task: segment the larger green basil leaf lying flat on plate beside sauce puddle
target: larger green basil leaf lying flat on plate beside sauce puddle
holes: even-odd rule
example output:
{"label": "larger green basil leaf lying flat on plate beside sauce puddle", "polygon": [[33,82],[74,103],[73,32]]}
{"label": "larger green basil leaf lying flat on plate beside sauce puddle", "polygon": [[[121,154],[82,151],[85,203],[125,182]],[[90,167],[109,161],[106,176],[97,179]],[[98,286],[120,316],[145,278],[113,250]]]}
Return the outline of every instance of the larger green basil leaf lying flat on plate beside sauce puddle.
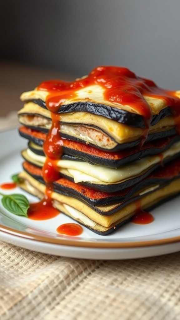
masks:
{"label": "larger green basil leaf lying flat on plate beside sauce puddle", "polygon": [[16,215],[28,216],[29,201],[25,196],[21,194],[4,195],[1,201],[8,211]]}

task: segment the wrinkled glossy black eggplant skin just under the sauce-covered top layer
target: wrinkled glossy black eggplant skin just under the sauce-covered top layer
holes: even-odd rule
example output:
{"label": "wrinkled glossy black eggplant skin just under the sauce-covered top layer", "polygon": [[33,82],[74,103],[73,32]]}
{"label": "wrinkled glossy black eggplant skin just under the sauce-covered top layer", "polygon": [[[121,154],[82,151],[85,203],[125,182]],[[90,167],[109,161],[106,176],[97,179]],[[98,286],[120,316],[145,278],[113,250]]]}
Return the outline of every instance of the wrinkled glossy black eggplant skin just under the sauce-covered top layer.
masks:
{"label": "wrinkled glossy black eggplant skin just under the sauce-covered top layer", "polygon": [[[41,99],[33,100],[38,106],[46,108],[45,101]],[[108,105],[94,103],[91,101],[86,102],[75,102],[67,105],[62,105],[58,113],[69,113],[69,112],[89,112],[94,115],[103,116],[105,118],[117,121],[122,124],[130,125],[132,127],[146,128],[143,116],[136,113],[128,112],[119,108],[113,108]],[[172,116],[172,111],[170,107],[166,107],[160,110],[158,115],[153,115],[151,120],[151,125],[158,123],[165,116]]]}

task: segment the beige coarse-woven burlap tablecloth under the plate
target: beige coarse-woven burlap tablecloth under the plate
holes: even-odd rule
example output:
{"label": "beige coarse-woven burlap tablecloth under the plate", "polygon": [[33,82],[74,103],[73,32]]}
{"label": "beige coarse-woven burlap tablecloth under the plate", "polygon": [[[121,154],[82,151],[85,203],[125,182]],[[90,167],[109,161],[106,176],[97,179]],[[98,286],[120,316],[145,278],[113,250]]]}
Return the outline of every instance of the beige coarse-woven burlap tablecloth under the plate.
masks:
{"label": "beige coarse-woven burlap tablecloth under the plate", "polygon": [[[0,118],[1,130],[17,125]],[[0,320],[180,320],[180,252],[78,260],[0,242]]]}

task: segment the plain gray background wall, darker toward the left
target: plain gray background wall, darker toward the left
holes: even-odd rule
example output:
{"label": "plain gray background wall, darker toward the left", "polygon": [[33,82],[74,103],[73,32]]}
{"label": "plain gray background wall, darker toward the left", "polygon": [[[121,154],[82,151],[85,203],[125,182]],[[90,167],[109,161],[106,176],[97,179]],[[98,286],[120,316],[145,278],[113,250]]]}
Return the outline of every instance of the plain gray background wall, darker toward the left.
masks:
{"label": "plain gray background wall, darker toward the left", "polygon": [[179,0],[0,0],[0,57],[82,76],[121,65],[180,88]]}

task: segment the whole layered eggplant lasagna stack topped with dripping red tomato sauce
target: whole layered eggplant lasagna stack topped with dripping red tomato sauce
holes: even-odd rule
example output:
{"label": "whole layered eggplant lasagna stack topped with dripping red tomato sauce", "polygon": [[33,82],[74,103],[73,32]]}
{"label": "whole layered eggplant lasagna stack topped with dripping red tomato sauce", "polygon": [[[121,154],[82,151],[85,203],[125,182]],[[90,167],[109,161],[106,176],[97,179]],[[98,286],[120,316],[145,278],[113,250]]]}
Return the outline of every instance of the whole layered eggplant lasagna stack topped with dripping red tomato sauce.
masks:
{"label": "whole layered eggplant lasagna stack topped with dripping red tomato sauce", "polygon": [[106,235],[180,192],[180,92],[127,68],[22,93],[20,187]]}

